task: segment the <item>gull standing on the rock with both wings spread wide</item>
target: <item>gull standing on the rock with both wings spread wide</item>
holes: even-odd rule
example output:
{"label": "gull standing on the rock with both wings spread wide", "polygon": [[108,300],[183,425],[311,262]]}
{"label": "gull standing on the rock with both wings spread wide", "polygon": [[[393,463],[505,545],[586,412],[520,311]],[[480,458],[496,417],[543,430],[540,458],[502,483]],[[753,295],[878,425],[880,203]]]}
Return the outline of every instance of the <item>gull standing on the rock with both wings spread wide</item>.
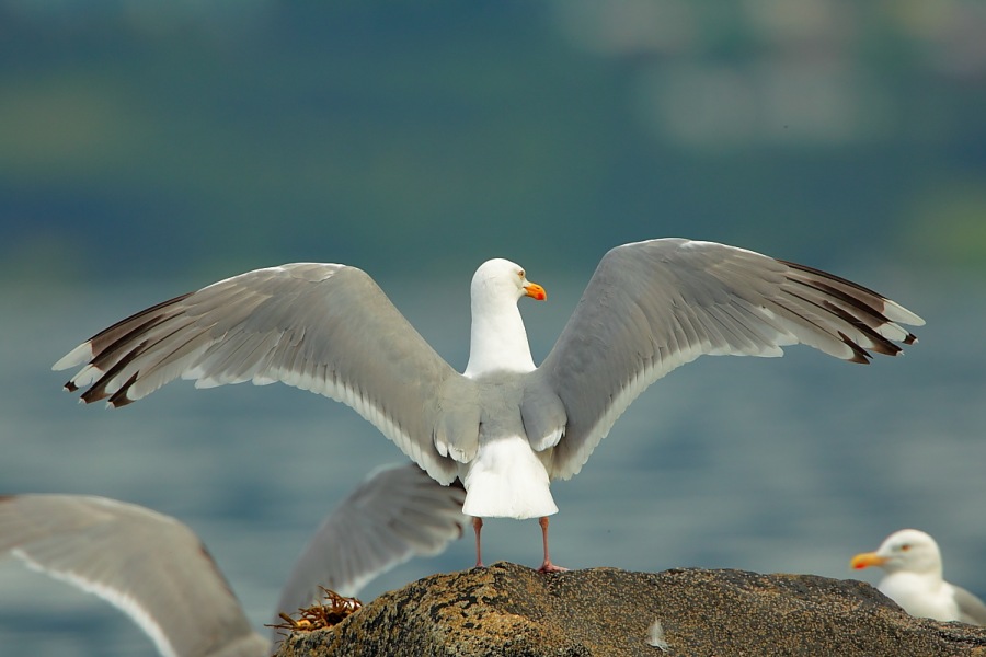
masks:
{"label": "gull standing on the rock with both wings spread wide", "polygon": [[280,381],[348,404],[436,481],[457,476],[475,518],[539,517],[548,482],[576,474],[651,383],[703,354],[780,356],[806,344],[868,362],[896,355],[924,321],[837,276],[684,239],[612,249],[535,367],[517,301],[543,298],[524,269],[484,263],[472,339],[456,372],[355,267],[296,263],[227,278],[125,319],[55,364],[66,388],[122,406],[181,376],[196,387]]}

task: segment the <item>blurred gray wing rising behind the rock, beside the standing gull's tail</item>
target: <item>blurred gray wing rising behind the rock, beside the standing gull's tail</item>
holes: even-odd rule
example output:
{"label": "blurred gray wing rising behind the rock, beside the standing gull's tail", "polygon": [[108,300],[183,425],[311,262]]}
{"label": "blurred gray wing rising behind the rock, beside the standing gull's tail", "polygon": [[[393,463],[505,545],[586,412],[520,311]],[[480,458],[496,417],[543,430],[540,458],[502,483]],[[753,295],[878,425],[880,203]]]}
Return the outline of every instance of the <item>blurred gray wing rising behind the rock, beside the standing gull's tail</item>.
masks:
{"label": "blurred gray wing rising behind the rock, beside the standing gull's tail", "polygon": [[443,486],[417,465],[390,466],[367,477],[325,518],[295,564],[277,602],[294,613],[319,597],[342,596],[412,556],[431,556],[462,535],[466,492]]}

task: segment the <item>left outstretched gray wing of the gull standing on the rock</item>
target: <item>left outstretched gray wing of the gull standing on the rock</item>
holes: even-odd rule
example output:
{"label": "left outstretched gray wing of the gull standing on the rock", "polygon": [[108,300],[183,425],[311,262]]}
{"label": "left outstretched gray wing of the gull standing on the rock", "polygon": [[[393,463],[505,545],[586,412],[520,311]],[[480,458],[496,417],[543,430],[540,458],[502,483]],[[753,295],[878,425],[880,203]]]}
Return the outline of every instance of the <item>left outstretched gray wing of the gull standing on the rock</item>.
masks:
{"label": "left outstretched gray wing of the gull standing on the rock", "polygon": [[456,475],[433,443],[439,393],[470,383],[355,267],[295,263],[227,278],[118,322],[54,369],[77,366],[66,388],[89,387],[84,402],[113,406],[179,376],[198,388],[280,381],[352,406],[442,483]]}

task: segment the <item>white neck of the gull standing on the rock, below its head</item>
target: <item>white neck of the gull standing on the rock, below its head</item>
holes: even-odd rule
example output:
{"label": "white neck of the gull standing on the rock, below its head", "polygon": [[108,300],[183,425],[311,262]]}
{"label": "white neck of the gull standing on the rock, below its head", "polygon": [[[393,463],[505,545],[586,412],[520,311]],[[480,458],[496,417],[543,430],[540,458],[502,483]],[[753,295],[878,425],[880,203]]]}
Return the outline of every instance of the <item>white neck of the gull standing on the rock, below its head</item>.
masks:
{"label": "white neck of the gull standing on the rock, below its head", "polygon": [[474,379],[494,371],[534,369],[517,299],[473,292],[469,362],[463,373]]}

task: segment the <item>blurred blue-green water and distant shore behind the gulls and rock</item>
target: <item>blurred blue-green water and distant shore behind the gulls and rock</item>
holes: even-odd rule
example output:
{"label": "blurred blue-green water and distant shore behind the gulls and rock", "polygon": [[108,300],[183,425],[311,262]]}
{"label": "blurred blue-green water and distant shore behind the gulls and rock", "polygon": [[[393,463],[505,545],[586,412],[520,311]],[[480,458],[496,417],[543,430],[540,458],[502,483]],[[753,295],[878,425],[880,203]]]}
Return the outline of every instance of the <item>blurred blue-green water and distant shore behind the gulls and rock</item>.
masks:
{"label": "blurred blue-green water and distant shore behind the gulls and rock", "polygon": [[[683,235],[850,277],[928,325],[657,382],[553,486],[570,567],[848,570],[916,527],[986,595],[986,5],[976,0],[0,1],[0,492],[106,495],[205,540],[257,626],[330,508],[403,457],[354,412],[176,382],[82,407],[50,365],[260,266],[368,270],[462,368],[468,283],[521,263],[543,358],[610,246]],[[489,561],[539,563],[534,521]],[[469,537],[365,598],[468,567]],[[153,655],[0,561],[12,654]]]}

